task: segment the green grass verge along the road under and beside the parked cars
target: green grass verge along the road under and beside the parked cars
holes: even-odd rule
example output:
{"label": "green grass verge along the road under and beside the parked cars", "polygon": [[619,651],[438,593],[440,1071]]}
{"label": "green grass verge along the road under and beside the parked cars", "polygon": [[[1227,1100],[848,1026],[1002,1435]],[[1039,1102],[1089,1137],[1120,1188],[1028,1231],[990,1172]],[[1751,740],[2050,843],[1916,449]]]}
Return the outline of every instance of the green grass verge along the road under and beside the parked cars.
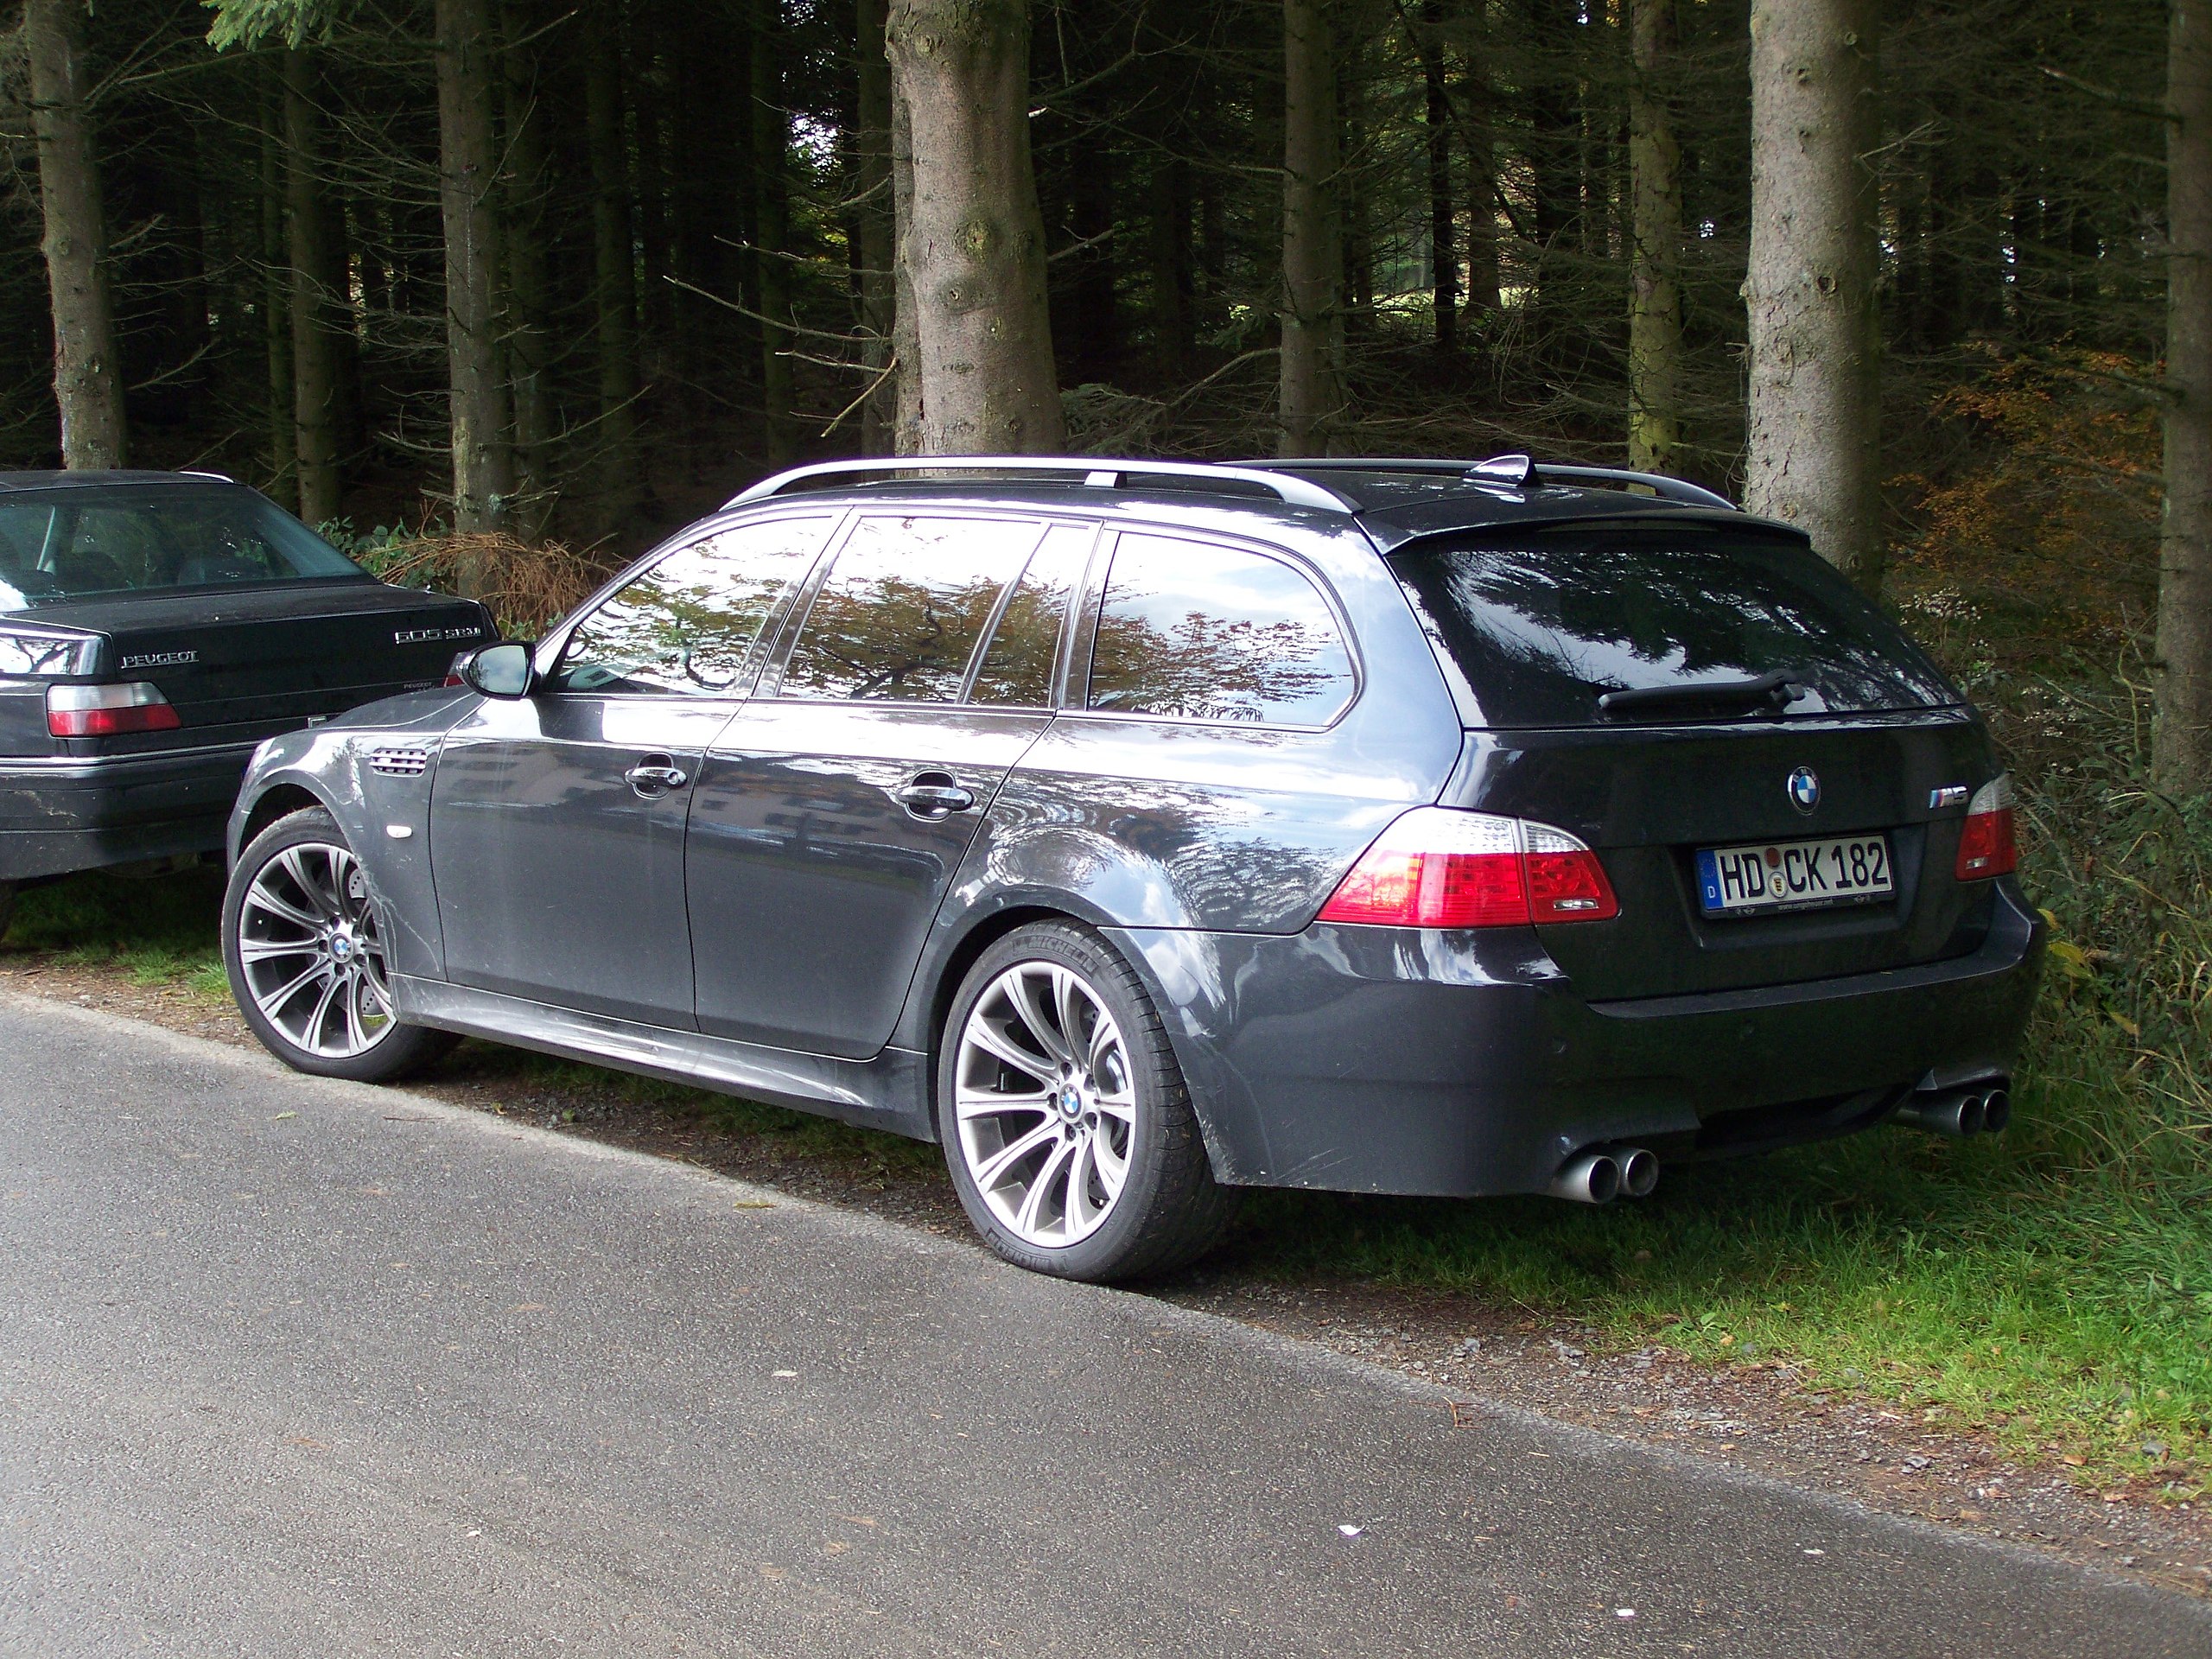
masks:
{"label": "green grass verge along the road under and beside the parked cars", "polygon": [[[2053,714],[2053,710],[2059,710]],[[2212,812],[2139,783],[2124,692],[2037,703],[2026,883],[2055,956],[2015,1126],[1947,1144],[1885,1128],[1670,1170],[1659,1197],[1584,1210],[1254,1194],[1239,1259],[1274,1279],[1464,1292],[1599,1343],[1770,1358],[1814,1387],[1995,1433],[2170,1495],[2212,1480]],[[2055,723],[2053,723],[2055,721]],[[2024,748],[2015,743],[2015,748]],[[113,962],[223,995],[217,880],[82,876],[22,896],[7,949]],[[584,1071],[465,1048],[493,1095]],[[885,1179],[931,1148],[648,1079],[595,1079],[779,1157]]]}

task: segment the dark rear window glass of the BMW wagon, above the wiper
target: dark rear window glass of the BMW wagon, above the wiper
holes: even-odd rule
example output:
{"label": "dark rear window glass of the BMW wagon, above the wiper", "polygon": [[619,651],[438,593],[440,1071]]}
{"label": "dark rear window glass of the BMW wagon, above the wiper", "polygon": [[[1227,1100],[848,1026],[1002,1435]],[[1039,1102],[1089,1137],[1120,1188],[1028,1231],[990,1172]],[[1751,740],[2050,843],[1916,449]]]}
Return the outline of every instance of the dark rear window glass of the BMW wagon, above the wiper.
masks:
{"label": "dark rear window glass of the BMW wagon, above the wiper", "polygon": [[[1958,692],[1803,542],[1717,526],[1520,531],[1391,555],[1438,664],[1480,726],[1597,726],[1608,690],[1783,672],[1787,714],[1936,708]],[[1787,695],[1787,692],[1785,692]],[[1632,719],[1741,719],[1644,701]]]}

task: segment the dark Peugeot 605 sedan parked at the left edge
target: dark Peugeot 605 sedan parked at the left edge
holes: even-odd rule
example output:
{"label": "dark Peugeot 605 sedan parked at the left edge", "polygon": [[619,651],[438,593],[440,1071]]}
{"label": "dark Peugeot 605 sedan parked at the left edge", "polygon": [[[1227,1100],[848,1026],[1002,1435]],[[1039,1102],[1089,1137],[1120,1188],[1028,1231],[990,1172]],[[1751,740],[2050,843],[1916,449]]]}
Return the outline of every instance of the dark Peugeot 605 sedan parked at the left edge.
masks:
{"label": "dark Peugeot 605 sedan parked at the left edge", "polygon": [[0,473],[0,931],[18,883],[219,852],[254,743],[491,637],[228,478]]}

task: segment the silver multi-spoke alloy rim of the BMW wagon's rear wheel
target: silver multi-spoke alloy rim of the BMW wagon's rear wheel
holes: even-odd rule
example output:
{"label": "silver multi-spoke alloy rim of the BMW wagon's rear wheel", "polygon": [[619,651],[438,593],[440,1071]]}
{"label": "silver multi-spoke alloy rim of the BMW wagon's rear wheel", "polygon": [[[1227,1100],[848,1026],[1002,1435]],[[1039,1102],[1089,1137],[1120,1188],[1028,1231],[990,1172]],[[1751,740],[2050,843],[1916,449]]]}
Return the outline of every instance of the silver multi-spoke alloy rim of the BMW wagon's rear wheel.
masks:
{"label": "silver multi-spoke alloy rim of the BMW wagon's rear wheel", "polygon": [[1104,1225],[1128,1183],[1137,1091],[1121,1026],[1060,962],[1015,962],[960,1029],[960,1157],[1022,1243],[1064,1248]]}

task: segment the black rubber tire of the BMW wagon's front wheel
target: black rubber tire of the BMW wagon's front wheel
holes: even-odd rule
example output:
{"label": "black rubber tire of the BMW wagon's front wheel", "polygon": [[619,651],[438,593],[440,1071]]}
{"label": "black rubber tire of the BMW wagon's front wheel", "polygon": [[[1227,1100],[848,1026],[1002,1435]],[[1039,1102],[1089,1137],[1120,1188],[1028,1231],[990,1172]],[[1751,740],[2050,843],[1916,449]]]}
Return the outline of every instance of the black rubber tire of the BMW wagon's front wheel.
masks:
{"label": "black rubber tire of the BMW wagon's front wheel", "polygon": [[[285,865],[283,858],[292,852],[299,852],[301,858]],[[307,880],[292,876],[292,869],[310,872]],[[349,874],[341,876],[341,872],[352,869],[358,865],[352,865],[345,832],[321,807],[292,812],[254,836],[252,845],[239,854],[237,869],[230,872],[230,887],[223,891],[223,967],[230,971],[230,993],[237,998],[246,1024],[292,1071],[305,1071],[314,1077],[345,1077],[356,1084],[383,1084],[445,1057],[460,1037],[451,1031],[400,1024],[392,1018],[376,1024],[374,1033],[367,1029],[369,1022],[361,1018],[363,1009],[378,1002],[389,1009],[389,993],[378,991],[385,929],[367,896],[367,885],[356,885]],[[270,876],[272,887],[257,891],[263,874]],[[330,880],[325,883],[323,876]],[[325,936],[343,931],[345,953],[338,956],[330,938],[316,945],[319,936],[305,920],[288,922],[270,905],[285,905],[301,918],[312,911],[323,920]],[[270,947],[281,953],[270,956]],[[248,969],[246,949],[257,949],[259,984],[254,971]],[[272,1002],[294,971],[301,975],[296,993]],[[321,978],[314,978],[316,973]],[[374,980],[374,984],[361,989],[363,980]],[[323,995],[325,984],[332,984],[338,998],[336,1011],[345,1020],[341,1031],[349,1037],[365,1037],[361,1046],[352,1046],[347,1035],[325,1044],[314,1042],[330,1033],[332,998]],[[343,998],[354,998],[352,1013],[347,1013]],[[274,1018],[263,1006],[265,1002],[274,1006]],[[299,1031],[279,1024],[279,1020],[294,1018]]]}

